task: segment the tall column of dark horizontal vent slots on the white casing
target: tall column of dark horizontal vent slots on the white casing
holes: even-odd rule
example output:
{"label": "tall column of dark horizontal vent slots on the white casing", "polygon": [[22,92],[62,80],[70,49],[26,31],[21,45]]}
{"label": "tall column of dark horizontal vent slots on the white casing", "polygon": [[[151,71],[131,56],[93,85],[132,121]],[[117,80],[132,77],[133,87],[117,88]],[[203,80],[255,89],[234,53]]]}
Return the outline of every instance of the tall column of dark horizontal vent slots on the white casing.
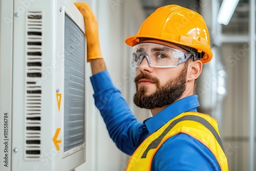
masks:
{"label": "tall column of dark horizontal vent slots on the white casing", "polygon": [[42,13],[27,13],[25,158],[41,156]]}

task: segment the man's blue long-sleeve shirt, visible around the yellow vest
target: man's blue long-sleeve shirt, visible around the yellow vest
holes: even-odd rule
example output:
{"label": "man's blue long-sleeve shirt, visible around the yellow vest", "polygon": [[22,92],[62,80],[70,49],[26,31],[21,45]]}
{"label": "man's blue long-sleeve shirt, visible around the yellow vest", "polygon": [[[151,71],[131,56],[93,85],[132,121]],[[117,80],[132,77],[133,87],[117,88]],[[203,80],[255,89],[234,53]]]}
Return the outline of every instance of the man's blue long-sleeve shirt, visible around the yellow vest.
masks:
{"label": "man's blue long-sleeve shirt, visible around the yellow vest", "polygon": [[[185,97],[156,114],[139,122],[114,87],[108,71],[91,77],[95,105],[104,119],[110,137],[122,152],[132,155],[140,143],[160,129],[169,120],[188,111],[197,111],[198,96]],[[201,142],[187,134],[177,134],[166,140],[152,161],[152,170],[221,170],[220,166]]]}

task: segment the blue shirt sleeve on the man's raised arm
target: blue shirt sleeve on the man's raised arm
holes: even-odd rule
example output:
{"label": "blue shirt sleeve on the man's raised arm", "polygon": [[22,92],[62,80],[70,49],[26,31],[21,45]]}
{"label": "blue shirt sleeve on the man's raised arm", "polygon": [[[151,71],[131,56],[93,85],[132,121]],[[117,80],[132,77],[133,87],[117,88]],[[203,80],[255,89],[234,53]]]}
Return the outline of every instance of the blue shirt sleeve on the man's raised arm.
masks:
{"label": "blue shirt sleeve on the man's raised arm", "polygon": [[95,105],[106,124],[110,137],[122,152],[132,155],[142,124],[132,114],[121,92],[114,87],[108,71],[93,75]]}

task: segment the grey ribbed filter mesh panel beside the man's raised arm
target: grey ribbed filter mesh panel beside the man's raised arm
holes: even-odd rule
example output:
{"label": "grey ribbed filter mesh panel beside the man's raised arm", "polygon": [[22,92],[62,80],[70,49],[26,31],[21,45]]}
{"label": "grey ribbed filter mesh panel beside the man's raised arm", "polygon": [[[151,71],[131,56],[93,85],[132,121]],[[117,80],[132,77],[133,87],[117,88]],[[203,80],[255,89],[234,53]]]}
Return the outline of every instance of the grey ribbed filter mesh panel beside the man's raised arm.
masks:
{"label": "grey ribbed filter mesh panel beside the man's raised arm", "polygon": [[85,49],[83,32],[65,15],[64,152],[85,142]]}

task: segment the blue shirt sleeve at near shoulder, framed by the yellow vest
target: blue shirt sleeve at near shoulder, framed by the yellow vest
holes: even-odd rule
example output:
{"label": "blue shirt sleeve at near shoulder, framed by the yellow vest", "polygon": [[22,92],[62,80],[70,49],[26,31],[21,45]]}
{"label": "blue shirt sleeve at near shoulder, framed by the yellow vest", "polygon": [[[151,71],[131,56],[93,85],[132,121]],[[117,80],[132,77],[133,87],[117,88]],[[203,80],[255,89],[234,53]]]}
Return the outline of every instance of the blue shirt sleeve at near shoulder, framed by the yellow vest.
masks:
{"label": "blue shirt sleeve at near shoulder, framed by the yellow vest", "polygon": [[166,140],[152,161],[153,171],[220,171],[220,166],[200,141],[187,134],[177,134]]}

